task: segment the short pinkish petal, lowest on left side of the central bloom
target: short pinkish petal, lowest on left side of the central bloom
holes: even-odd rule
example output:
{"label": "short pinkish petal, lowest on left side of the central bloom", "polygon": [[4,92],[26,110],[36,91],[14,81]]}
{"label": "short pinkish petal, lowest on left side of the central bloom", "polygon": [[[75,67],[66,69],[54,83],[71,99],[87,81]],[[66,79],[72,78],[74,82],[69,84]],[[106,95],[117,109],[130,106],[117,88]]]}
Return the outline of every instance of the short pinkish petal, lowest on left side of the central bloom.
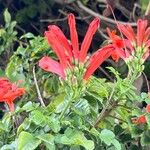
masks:
{"label": "short pinkish petal, lowest on left side of the central bloom", "polygon": [[39,66],[44,69],[45,71],[49,71],[52,73],[56,73],[63,79],[65,78],[64,70],[62,66],[55,60],[51,59],[48,56],[44,56],[40,61],[39,61]]}

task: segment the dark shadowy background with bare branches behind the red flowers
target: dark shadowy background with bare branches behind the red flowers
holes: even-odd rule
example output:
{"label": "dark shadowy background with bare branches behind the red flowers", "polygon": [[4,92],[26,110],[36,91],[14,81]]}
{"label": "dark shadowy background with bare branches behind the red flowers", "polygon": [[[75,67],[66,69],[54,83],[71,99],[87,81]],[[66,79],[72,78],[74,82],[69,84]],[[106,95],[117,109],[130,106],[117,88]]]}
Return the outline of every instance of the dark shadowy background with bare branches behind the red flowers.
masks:
{"label": "dark shadowy background with bare branches behind the red flowers", "polygon": [[[108,5],[111,6],[112,10]],[[150,20],[150,13],[149,10],[147,10],[147,5],[148,0],[0,0],[0,25],[1,27],[4,26],[4,21],[2,21],[3,12],[8,8],[12,20],[17,22],[16,30],[18,37],[27,32],[43,36],[49,24],[57,24],[69,38],[67,14],[71,12],[76,16],[79,41],[81,43],[89,22],[93,19],[94,15],[99,15],[101,18],[101,27],[94,36],[89,50],[92,53],[97,50],[101,44],[105,44],[103,42],[107,40],[106,27],[115,29],[115,18],[118,21],[130,23],[135,23],[139,18]],[[113,16],[112,11],[115,16]],[[1,68],[5,68],[5,61],[7,62],[17,46],[18,43],[15,41],[13,43],[13,50],[9,50],[9,52],[2,54],[4,60],[2,60]],[[112,60],[108,60],[104,63],[96,74],[98,76],[106,76],[109,80],[113,80],[112,75],[108,74],[107,71],[103,69],[103,66],[107,66],[108,64],[118,68],[122,74],[125,74],[126,67],[122,65],[122,61],[119,61],[116,65]],[[145,64],[145,73],[149,79],[150,72],[148,70],[150,65],[148,61]]]}

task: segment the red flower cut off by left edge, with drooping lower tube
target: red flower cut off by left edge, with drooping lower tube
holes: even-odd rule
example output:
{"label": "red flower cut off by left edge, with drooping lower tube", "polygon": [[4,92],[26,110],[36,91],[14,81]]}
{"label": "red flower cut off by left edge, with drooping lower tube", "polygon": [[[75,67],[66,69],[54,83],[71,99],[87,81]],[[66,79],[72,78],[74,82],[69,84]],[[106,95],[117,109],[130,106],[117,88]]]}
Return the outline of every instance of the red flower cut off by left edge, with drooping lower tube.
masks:
{"label": "red flower cut off by left edge, with drooping lower tube", "polygon": [[8,79],[0,78],[0,102],[7,103],[11,112],[14,111],[13,101],[24,93],[24,88],[18,88],[17,85],[9,82]]}

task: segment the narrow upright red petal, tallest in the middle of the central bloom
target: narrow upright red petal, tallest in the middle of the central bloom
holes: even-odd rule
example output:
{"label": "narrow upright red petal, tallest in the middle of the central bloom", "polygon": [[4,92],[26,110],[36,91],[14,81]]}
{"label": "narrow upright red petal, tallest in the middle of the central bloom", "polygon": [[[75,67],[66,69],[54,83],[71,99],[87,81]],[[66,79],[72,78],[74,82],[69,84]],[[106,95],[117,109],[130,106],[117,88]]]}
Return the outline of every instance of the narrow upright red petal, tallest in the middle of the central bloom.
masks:
{"label": "narrow upright red petal, tallest in the middle of the central bloom", "polygon": [[76,30],[76,22],[75,17],[73,14],[68,15],[68,24],[70,28],[70,38],[73,48],[73,54],[75,58],[78,58],[79,56],[79,42],[78,42],[78,34]]}

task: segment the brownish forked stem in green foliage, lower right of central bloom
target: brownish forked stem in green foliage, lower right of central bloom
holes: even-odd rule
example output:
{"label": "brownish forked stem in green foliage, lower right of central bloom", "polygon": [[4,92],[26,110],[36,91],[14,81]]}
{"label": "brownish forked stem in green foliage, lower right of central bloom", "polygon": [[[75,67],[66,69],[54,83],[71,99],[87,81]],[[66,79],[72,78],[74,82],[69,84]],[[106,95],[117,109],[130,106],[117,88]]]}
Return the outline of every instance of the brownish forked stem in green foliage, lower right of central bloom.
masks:
{"label": "brownish forked stem in green foliage, lower right of central bloom", "polygon": [[112,111],[112,109],[114,108],[114,106],[116,105],[116,102],[114,101],[113,104],[111,105],[111,108],[108,109],[109,104],[111,102],[112,96],[114,94],[115,88],[113,88],[109,99],[106,102],[106,106],[103,108],[103,110],[101,111],[101,113],[99,114],[98,118],[96,119],[95,123],[94,123],[94,127],[97,127],[99,125],[99,123],[110,114],[110,112]]}

